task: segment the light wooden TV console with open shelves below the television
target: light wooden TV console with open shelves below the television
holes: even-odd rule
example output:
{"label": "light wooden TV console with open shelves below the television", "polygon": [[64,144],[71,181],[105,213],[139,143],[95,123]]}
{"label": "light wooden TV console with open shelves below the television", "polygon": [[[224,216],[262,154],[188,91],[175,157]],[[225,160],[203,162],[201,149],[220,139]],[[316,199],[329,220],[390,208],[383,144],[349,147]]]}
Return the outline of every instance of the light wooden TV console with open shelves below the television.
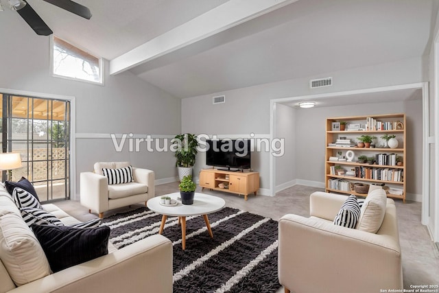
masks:
{"label": "light wooden TV console with open shelves below the television", "polygon": [[[220,186],[224,186],[221,188]],[[244,195],[247,200],[248,194],[256,196],[259,189],[259,172],[233,172],[219,169],[202,169],[200,171],[201,190],[209,188],[230,192],[232,194]]]}

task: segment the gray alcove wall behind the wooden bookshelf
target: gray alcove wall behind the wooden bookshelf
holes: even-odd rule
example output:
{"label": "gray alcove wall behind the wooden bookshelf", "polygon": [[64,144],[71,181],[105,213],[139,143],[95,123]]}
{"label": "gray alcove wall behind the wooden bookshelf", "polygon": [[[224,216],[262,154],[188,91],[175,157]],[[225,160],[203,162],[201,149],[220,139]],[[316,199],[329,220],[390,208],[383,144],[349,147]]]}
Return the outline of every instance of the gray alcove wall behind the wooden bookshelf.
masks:
{"label": "gray alcove wall behind the wooden bookshelf", "polygon": [[[329,117],[405,113],[407,142],[407,194],[422,193],[423,112],[422,99],[406,102],[361,104],[296,110],[297,179],[324,184],[325,126]],[[380,140],[380,136],[376,135]],[[304,167],[305,166],[305,167]]]}

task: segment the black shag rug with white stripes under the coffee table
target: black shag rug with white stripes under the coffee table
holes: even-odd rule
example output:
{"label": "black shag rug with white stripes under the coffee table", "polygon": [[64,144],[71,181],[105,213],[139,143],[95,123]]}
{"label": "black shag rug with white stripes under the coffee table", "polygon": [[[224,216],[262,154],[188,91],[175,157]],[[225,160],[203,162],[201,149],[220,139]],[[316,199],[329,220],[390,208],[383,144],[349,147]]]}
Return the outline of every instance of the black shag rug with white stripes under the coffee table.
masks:
{"label": "black shag rug with white stripes under the coffee table", "polygon": [[[102,222],[110,242],[122,248],[158,233],[161,215],[146,208]],[[209,214],[213,238],[201,216],[187,217],[186,250],[178,218],[169,217],[163,235],[174,245],[174,292],[276,292],[278,223],[225,207]]]}

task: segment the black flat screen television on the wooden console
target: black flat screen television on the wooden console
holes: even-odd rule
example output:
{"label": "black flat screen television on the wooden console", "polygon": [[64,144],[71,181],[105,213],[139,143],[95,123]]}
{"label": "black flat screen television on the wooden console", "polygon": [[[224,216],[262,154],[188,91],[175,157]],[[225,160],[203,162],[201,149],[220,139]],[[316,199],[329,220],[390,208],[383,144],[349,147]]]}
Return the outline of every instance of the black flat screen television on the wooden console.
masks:
{"label": "black flat screen television on the wooden console", "polygon": [[251,153],[248,139],[206,140],[206,165],[250,169]]}

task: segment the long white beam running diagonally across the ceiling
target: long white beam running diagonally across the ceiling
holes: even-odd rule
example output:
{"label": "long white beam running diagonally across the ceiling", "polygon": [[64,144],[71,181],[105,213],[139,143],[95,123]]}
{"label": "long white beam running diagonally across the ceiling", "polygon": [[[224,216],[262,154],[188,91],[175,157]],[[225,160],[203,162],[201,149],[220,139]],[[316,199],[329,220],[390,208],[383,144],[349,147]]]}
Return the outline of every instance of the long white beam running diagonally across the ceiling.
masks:
{"label": "long white beam running diagonally across the ceiling", "polygon": [[230,0],[110,60],[115,75],[298,0]]}

